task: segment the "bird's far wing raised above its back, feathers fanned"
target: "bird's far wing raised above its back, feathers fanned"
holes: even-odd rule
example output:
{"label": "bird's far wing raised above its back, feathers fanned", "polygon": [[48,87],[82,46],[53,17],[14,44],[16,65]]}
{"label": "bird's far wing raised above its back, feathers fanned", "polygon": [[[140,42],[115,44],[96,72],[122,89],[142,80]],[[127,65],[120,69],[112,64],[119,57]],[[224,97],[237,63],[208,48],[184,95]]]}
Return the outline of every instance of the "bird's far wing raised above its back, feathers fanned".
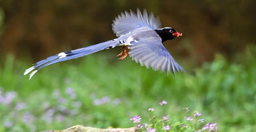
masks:
{"label": "bird's far wing raised above its back, feathers fanned", "polygon": [[144,9],[143,15],[140,10],[137,9],[137,14],[131,10],[131,12],[125,11],[113,21],[113,31],[117,37],[127,34],[128,32],[141,28],[147,27],[151,29],[161,28],[161,22],[159,18],[155,18],[151,12],[149,15],[147,10]]}

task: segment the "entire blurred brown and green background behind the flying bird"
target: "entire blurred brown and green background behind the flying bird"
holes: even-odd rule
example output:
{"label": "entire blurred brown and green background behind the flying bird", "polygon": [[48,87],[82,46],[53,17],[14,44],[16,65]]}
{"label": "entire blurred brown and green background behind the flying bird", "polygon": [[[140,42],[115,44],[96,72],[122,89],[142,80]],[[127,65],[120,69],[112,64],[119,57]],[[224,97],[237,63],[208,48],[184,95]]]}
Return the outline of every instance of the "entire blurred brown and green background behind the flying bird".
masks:
{"label": "entire blurred brown and green background behind the flying bird", "polygon": [[[137,7],[183,33],[164,45],[185,73],[119,61],[117,47],[23,76],[41,59],[114,39],[115,17]],[[131,127],[131,117],[166,100],[177,120],[190,107],[219,131],[256,131],[255,12],[253,0],[1,0],[0,130]]]}

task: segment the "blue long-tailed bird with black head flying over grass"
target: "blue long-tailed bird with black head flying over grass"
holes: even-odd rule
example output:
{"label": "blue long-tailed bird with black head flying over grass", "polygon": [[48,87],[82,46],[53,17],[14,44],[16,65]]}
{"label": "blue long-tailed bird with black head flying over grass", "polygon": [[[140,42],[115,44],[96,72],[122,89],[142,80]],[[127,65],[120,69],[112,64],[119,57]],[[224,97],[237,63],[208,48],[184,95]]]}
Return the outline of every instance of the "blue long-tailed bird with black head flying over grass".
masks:
{"label": "blue long-tailed bird with black head flying over grass", "polygon": [[171,27],[161,28],[159,18],[154,17],[152,12],[149,15],[146,9],[143,10],[143,14],[139,9],[137,9],[137,14],[132,10],[122,12],[113,21],[112,26],[118,38],[50,56],[35,63],[33,67],[24,72],[24,75],[31,72],[30,79],[38,70],[47,65],[83,57],[116,46],[121,46],[122,52],[117,55],[120,60],[130,55],[136,63],[139,62],[142,66],[145,65],[153,70],[163,71],[167,74],[169,71],[173,74],[175,71],[183,71],[183,68],[163,45],[163,42],[182,36],[182,34]]}

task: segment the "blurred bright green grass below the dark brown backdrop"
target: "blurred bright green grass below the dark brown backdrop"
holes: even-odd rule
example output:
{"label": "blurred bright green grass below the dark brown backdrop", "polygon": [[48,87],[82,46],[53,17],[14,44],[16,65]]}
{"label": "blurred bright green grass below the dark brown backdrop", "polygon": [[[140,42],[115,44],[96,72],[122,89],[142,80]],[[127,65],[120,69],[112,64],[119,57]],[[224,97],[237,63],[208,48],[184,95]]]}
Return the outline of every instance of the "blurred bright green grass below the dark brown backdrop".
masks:
{"label": "blurred bright green grass below the dark brown backdrop", "polygon": [[[31,80],[23,75],[31,62],[8,56],[1,65],[1,96],[11,91],[16,94],[10,103],[0,104],[0,129],[39,131],[77,124],[132,127],[130,118],[135,115],[148,121],[148,108],[155,108],[155,114],[163,116],[157,108],[166,100],[165,112],[175,117],[174,121],[185,122],[182,108],[190,107],[202,113],[205,123],[217,123],[219,131],[256,131],[255,46],[232,62],[217,54],[213,62],[196,68],[196,75],[183,73],[176,77],[141,67],[130,58],[116,61],[115,54],[104,53],[53,64]],[[186,62],[182,65],[190,67]],[[74,90],[73,96],[67,88]],[[102,97],[105,104],[93,105]],[[26,106],[15,109],[20,103]]]}

